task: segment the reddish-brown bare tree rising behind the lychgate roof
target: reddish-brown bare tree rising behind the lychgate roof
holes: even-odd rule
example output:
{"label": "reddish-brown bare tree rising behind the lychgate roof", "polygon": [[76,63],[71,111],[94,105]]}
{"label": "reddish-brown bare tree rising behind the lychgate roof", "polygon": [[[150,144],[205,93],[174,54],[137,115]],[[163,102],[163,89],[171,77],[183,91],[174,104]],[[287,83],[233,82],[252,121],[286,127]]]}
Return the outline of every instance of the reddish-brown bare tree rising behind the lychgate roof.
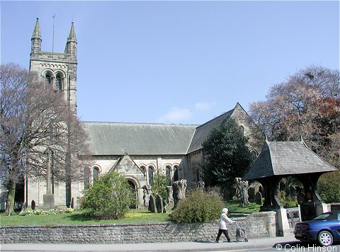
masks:
{"label": "reddish-brown bare tree rising behind the lychgate roof", "polygon": [[271,87],[266,101],[251,103],[249,114],[270,140],[303,137],[308,146],[339,167],[339,70],[307,67]]}

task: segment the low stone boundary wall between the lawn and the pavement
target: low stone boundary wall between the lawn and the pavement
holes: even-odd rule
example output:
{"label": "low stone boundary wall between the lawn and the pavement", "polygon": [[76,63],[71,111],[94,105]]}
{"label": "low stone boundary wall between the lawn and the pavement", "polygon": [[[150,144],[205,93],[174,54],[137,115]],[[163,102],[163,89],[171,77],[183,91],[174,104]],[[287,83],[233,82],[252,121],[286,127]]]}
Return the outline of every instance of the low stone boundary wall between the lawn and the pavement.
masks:
{"label": "low stone boundary wall between the lawn and the pavement", "polygon": [[[276,212],[256,212],[248,217],[234,220],[242,229],[246,229],[249,239],[274,237],[276,236],[275,215]],[[217,222],[1,227],[0,243],[123,244],[214,241],[217,229]],[[236,227],[229,226],[229,236],[234,237],[235,234]]]}

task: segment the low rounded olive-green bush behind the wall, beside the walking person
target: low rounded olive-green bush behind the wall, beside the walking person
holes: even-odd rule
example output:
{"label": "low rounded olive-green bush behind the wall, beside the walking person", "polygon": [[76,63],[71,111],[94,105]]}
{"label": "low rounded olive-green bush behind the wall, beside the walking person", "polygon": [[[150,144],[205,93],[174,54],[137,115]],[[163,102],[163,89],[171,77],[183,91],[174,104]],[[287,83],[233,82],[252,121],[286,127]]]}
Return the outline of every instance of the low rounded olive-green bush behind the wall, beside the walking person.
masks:
{"label": "low rounded olive-green bush behind the wall, beside the walking person", "polygon": [[179,202],[171,219],[178,223],[212,222],[218,219],[224,205],[216,194],[193,190]]}

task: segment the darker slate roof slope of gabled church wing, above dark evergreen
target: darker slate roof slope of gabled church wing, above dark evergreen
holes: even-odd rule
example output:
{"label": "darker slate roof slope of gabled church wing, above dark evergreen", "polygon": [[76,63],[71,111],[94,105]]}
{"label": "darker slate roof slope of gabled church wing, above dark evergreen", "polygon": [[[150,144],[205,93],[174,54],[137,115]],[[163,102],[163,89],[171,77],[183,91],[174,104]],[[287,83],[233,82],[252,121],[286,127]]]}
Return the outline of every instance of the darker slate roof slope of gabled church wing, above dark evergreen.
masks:
{"label": "darker slate roof slope of gabled church wing, above dark evergreen", "polygon": [[235,108],[233,108],[232,110],[229,110],[226,113],[223,113],[220,116],[217,116],[217,118],[214,118],[208,122],[205,122],[205,124],[203,125],[198,126],[196,128],[195,135],[193,136],[193,140],[191,141],[190,147],[188,149],[188,153],[202,149],[203,148],[202,143],[204,142],[205,139],[207,139],[211,130],[217,127],[218,125],[226,122],[230,118],[232,113],[234,112]]}

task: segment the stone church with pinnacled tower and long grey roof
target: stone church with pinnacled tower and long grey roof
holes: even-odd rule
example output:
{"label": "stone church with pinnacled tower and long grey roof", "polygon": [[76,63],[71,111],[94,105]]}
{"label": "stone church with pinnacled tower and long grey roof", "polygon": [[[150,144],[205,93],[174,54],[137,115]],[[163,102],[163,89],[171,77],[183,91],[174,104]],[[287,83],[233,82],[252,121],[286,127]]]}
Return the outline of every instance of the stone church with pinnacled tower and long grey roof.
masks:
{"label": "stone church with pinnacled tower and long grey roof", "polygon": [[[74,23],[72,22],[64,53],[42,52],[41,43],[37,18],[31,38],[30,73],[44,80],[56,91],[62,92],[69,108],[77,114],[77,38]],[[188,188],[193,188],[202,175],[203,141],[214,127],[229,118],[234,118],[244,134],[250,137],[249,149],[257,156],[258,151],[252,137],[255,124],[239,103],[227,113],[203,125],[83,122],[84,129],[89,134],[94,165],[84,167],[84,182],[52,185],[55,205],[69,206],[66,194],[70,192],[72,206],[77,207],[77,199],[81,197],[84,188],[94,183],[102,174],[111,171],[123,173],[127,178],[135,191],[138,202],[136,207],[142,207],[142,187],[152,185],[156,173],[164,174],[169,185],[186,179]],[[37,206],[42,205],[46,179],[34,182],[28,179],[24,188],[24,201],[28,205],[32,200],[35,200]]]}

